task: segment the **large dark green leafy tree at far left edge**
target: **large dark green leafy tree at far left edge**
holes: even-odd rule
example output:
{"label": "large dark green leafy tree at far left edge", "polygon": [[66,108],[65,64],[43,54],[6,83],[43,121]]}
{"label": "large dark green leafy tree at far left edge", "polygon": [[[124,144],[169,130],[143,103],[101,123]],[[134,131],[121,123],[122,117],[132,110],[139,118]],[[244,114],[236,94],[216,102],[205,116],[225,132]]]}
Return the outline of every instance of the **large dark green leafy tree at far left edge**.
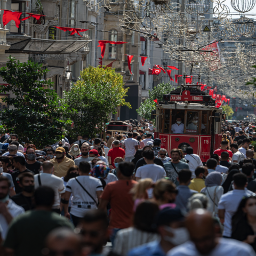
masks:
{"label": "large dark green leafy tree at far left edge", "polygon": [[9,57],[0,76],[8,85],[0,87],[0,93],[10,93],[3,102],[8,107],[1,112],[1,122],[6,131],[17,133],[20,142],[33,141],[38,148],[61,140],[63,127],[71,125],[62,114],[69,110],[60,105],[61,99],[50,89],[52,83],[44,81],[47,69],[31,61],[20,63]]}

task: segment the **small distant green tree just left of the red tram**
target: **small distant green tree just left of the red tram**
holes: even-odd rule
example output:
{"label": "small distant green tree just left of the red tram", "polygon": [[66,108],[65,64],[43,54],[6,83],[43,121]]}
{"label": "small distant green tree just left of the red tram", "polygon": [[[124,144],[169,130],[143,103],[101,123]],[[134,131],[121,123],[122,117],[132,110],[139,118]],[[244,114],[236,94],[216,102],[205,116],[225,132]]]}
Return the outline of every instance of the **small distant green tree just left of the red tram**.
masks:
{"label": "small distant green tree just left of the red tram", "polygon": [[174,87],[171,83],[158,84],[153,90],[149,91],[148,99],[141,103],[139,109],[136,109],[137,113],[145,119],[151,119],[151,111],[156,109],[154,100],[163,101],[163,94],[170,93],[172,90],[174,90]]}

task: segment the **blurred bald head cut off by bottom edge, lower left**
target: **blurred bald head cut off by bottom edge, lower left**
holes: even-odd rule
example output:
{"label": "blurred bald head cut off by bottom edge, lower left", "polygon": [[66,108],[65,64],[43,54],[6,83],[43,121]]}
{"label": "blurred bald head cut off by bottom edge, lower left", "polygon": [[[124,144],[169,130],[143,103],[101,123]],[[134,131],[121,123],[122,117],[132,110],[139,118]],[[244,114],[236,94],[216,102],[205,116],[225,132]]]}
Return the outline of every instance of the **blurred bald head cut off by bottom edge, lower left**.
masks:
{"label": "blurred bald head cut off by bottom edge, lower left", "polygon": [[75,234],[72,230],[67,228],[54,229],[46,237],[46,248],[44,249],[46,254],[49,252],[61,252],[69,251],[74,252],[73,256],[82,255],[82,243],[81,237]]}

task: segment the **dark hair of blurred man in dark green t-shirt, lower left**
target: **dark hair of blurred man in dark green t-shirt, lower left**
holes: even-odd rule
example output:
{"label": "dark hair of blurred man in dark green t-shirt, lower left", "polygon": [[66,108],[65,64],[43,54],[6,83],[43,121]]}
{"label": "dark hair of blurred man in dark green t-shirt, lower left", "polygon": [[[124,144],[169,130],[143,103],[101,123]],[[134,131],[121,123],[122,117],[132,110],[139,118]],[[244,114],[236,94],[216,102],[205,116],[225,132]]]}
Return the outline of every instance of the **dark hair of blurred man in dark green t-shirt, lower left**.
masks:
{"label": "dark hair of blurred man in dark green t-shirt, lower left", "polygon": [[54,203],[54,190],[47,186],[40,186],[35,190],[36,206],[52,206]]}

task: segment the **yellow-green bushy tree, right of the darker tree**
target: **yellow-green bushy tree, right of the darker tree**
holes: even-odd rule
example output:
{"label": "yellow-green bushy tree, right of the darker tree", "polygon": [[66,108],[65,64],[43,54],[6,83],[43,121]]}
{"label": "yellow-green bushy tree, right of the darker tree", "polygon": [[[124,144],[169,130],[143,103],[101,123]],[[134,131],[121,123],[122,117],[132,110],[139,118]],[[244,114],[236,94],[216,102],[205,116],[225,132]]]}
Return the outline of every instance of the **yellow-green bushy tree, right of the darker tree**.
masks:
{"label": "yellow-green bushy tree, right of the darker tree", "polygon": [[[128,88],[129,89],[129,88]],[[73,127],[69,130],[71,137],[78,134],[95,135],[101,131],[103,123],[109,121],[109,114],[116,114],[116,107],[131,107],[124,97],[122,75],[113,68],[89,67],[81,72],[79,80],[65,93],[67,105],[76,109],[72,115]]]}

